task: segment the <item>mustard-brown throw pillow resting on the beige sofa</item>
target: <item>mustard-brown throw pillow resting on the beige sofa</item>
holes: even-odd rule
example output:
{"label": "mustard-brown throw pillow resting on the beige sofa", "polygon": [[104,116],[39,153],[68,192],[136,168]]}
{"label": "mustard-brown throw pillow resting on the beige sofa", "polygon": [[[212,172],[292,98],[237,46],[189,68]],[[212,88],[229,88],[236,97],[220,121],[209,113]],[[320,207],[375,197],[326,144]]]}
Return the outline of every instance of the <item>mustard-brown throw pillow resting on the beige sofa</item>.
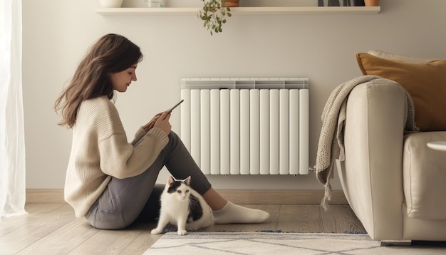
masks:
{"label": "mustard-brown throw pillow resting on the beige sofa", "polygon": [[357,53],[356,61],[363,75],[395,80],[408,90],[420,131],[446,130],[445,60],[410,63]]}

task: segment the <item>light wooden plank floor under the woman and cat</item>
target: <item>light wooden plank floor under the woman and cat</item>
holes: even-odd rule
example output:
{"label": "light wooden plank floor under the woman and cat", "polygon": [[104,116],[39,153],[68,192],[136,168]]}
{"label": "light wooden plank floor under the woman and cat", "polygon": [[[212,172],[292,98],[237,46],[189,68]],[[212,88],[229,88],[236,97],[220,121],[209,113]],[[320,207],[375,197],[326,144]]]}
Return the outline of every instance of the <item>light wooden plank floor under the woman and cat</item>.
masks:
{"label": "light wooden plank floor under the woman and cat", "polygon": [[[247,204],[271,214],[264,224],[214,225],[207,231],[281,230],[311,233],[364,233],[348,205]],[[27,215],[2,218],[0,254],[142,254],[162,235],[152,235],[154,223],[135,224],[125,230],[100,230],[76,219],[68,204],[26,204]]]}

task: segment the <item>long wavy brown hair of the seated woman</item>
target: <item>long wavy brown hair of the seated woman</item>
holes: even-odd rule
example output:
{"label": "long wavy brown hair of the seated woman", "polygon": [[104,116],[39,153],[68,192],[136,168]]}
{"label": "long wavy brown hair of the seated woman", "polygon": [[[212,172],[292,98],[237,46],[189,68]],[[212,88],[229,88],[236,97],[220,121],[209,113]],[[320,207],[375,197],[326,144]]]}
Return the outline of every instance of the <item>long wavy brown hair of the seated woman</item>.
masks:
{"label": "long wavy brown hair of the seated woman", "polygon": [[75,125],[83,100],[102,95],[111,100],[113,84],[108,74],[124,71],[140,61],[140,47],[124,36],[109,33],[93,43],[71,82],[54,103],[54,110],[61,111],[62,115],[59,125]]}

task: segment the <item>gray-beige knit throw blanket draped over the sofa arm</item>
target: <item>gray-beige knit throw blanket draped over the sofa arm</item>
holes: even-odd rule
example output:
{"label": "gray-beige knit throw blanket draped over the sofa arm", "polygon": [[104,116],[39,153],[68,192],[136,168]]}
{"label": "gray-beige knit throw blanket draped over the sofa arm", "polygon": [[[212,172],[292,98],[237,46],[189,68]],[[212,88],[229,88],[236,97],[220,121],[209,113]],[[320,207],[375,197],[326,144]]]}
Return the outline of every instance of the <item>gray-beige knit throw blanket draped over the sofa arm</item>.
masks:
{"label": "gray-beige knit throw blanket draped over the sofa arm", "polygon": [[[328,201],[331,200],[330,179],[333,178],[333,167],[336,159],[344,161],[345,152],[343,146],[343,127],[346,123],[347,98],[351,90],[361,83],[377,81],[386,83],[399,83],[381,78],[379,76],[360,76],[338,85],[328,98],[322,112],[322,129],[319,137],[318,152],[316,155],[316,178],[325,186],[325,195],[321,206],[328,209]],[[415,131],[415,108],[412,98],[405,90],[405,130]]]}

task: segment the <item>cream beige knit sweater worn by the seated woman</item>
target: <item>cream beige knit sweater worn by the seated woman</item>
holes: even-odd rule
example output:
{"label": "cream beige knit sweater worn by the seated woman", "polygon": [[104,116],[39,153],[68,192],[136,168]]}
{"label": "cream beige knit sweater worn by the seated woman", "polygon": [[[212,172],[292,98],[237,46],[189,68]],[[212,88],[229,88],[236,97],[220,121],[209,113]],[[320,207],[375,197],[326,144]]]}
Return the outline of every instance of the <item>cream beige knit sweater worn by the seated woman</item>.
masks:
{"label": "cream beige knit sweater worn by the seated woman", "polygon": [[140,127],[129,143],[115,105],[102,96],[85,100],[78,110],[66,171],[65,200],[76,217],[83,217],[102,194],[111,177],[140,175],[167,145],[159,128]]}

